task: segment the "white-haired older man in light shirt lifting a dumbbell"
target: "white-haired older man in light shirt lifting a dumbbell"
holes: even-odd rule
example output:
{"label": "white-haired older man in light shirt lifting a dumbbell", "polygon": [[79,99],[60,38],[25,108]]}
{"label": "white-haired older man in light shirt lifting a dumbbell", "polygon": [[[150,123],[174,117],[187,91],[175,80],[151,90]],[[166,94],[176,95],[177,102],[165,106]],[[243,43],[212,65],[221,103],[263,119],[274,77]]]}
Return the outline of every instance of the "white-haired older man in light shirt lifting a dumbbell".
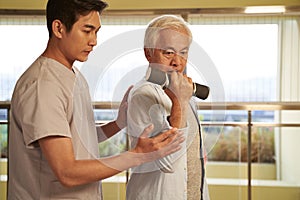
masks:
{"label": "white-haired older man in light shirt lifting a dumbbell", "polygon": [[[179,17],[164,15],[148,25],[144,53],[149,62],[147,74],[128,97],[128,132],[132,146],[142,127],[153,123],[156,135],[170,127],[182,129],[186,146],[155,162],[135,167],[127,185],[128,200],[207,200],[203,145],[193,83],[185,75],[192,33]],[[162,80],[155,80],[162,71]],[[167,78],[169,77],[169,78]],[[150,81],[151,80],[151,81]]]}

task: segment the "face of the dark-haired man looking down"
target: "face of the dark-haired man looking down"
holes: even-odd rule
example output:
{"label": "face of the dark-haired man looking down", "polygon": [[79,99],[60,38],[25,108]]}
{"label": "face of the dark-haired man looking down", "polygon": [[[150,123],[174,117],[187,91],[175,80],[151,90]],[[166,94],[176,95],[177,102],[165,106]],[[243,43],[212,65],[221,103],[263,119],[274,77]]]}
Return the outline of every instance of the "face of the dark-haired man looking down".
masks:
{"label": "face of the dark-haired man looking down", "polygon": [[70,32],[64,33],[61,49],[68,62],[87,60],[89,53],[97,44],[97,32],[100,27],[100,14],[92,11],[86,16],[80,16]]}

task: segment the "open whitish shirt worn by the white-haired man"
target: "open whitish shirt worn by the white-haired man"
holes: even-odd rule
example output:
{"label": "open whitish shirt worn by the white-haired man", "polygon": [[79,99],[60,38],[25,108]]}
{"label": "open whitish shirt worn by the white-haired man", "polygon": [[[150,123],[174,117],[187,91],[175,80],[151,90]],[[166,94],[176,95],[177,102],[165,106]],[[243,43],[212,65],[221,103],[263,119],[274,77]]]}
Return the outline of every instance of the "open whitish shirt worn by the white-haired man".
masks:
{"label": "open whitish shirt worn by the white-haired man", "polygon": [[[137,137],[149,123],[154,124],[153,135],[170,128],[167,117],[171,106],[171,100],[160,85],[145,80],[137,83],[128,98],[128,134],[131,136],[131,146],[135,145]],[[183,131],[188,135],[182,151],[132,169],[127,184],[128,200],[187,199],[186,150],[199,132],[198,129],[190,130],[189,125]]]}

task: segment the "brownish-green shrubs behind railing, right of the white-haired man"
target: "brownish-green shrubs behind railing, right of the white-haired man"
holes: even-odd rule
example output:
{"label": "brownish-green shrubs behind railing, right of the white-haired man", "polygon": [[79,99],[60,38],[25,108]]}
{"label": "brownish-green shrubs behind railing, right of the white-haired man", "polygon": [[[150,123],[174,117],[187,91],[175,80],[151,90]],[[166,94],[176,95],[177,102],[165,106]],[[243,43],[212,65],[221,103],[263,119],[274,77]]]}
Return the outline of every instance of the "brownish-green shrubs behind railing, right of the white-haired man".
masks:
{"label": "brownish-green shrubs behind railing, right of the white-haired man", "polygon": [[[208,154],[211,161],[247,162],[247,128],[232,128],[220,135]],[[274,163],[274,129],[257,128],[251,134],[251,161]]]}

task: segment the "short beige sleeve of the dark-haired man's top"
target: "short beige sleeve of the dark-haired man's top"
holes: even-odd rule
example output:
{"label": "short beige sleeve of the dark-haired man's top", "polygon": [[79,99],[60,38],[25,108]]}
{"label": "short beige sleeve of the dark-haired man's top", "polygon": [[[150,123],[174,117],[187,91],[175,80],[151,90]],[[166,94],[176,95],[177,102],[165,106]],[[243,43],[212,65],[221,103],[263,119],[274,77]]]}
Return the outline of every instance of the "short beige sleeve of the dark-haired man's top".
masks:
{"label": "short beige sleeve of the dark-haired man's top", "polygon": [[49,80],[37,80],[30,86],[20,102],[22,129],[26,146],[44,137],[60,135],[70,137],[68,107],[70,96],[61,85]]}

